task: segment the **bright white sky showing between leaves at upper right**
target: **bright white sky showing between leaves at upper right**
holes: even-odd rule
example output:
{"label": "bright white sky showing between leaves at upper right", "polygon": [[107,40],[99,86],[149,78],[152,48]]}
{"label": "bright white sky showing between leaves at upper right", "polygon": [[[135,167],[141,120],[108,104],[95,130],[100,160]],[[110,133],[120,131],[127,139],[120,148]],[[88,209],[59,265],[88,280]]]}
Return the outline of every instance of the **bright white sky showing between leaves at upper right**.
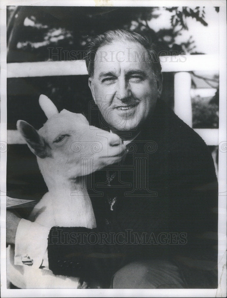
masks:
{"label": "bright white sky showing between leaves at upper right", "polygon": [[[151,19],[149,26],[155,31],[162,28],[171,28],[171,13],[166,10],[162,12],[158,10],[157,13],[161,13],[161,15],[156,19]],[[219,14],[214,7],[205,7],[205,21],[208,23],[207,27],[200,24],[195,18],[186,18],[189,30],[182,30],[182,35],[176,38],[176,43],[187,41],[192,35],[196,46],[193,51],[204,54],[217,54],[219,52]]]}

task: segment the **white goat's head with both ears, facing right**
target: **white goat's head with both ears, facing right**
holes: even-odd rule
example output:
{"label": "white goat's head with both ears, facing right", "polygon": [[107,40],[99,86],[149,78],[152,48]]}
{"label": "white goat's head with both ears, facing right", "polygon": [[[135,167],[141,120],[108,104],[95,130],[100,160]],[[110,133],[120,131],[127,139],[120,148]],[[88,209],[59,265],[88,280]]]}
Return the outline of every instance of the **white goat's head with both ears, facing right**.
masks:
{"label": "white goat's head with both ears, facing right", "polygon": [[[58,113],[45,95],[40,97],[47,122],[37,132],[18,120],[17,128],[37,156],[44,180],[73,179],[118,162],[124,155],[122,139],[116,134],[90,126],[82,114]],[[47,182],[47,181],[46,181]]]}

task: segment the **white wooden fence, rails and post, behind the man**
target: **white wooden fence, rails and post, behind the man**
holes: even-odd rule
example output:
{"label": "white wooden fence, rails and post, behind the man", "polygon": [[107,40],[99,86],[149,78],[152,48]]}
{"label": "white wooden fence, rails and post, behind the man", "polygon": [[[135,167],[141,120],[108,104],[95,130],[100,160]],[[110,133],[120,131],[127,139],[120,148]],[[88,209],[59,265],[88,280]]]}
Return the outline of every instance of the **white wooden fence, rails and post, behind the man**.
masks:
{"label": "white wooden fence, rails and post, behind the man", "polygon": [[[192,127],[191,76],[189,71],[218,71],[217,55],[161,56],[162,72],[176,72],[174,77],[175,113]],[[8,63],[7,77],[45,77],[87,75],[84,60]],[[207,145],[218,145],[218,129],[195,129]],[[16,130],[7,131],[8,144],[24,144]]]}

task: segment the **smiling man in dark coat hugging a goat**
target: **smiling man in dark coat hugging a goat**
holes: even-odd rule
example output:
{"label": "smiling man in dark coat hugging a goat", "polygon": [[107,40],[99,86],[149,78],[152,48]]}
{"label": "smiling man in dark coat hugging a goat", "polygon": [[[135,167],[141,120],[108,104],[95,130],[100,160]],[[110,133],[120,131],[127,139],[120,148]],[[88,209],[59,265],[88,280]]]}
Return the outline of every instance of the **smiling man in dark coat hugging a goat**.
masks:
{"label": "smiling man in dark coat hugging a goat", "polygon": [[[99,125],[121,136],[128,153],[94,174],[96,229],[49,231],[9,214],[16,264],[26,252],[32,266],[102,287],[216,288],[213,161],[203,140],[160,100],[154,45],[135,32],[108,31],[90,42],[86,65]],[[38,230],[35,241],[44,244],[34,249]]]}

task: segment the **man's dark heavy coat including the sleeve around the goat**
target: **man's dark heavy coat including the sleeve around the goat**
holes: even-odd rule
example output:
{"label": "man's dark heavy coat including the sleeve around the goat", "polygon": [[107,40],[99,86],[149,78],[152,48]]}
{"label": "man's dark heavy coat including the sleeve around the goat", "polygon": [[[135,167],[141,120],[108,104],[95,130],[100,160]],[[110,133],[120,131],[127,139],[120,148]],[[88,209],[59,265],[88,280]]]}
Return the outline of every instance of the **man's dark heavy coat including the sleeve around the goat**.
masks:
{"label": "man's dark heavy coat including the sleeve around the goat", "polygon": [[108,287],[125,264],[154,258],[175,263],[187,288],[217,288],[213,160],[172,110],[158,101],[125,161],[91,177],[97,228],[51,229],[54,274],[95,278]]}

